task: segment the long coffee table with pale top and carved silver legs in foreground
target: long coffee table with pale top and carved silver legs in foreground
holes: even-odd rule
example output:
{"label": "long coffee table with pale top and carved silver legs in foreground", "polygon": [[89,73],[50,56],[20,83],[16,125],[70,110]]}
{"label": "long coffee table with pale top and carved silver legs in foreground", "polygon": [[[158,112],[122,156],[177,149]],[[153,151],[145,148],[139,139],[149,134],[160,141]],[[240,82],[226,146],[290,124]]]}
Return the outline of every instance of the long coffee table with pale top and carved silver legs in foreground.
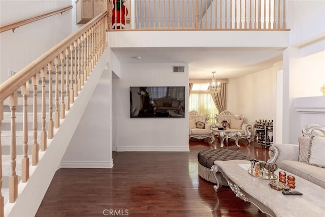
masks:
{"label": "long coffee table with pale top and carved silver legs in foreground", "polygon": [[[270,216],[324,216],[325,189],[285,171],[287,175],[296,177],[296,189],[293,191],[303,193],[301,196],[285,196],[282,192],[269,187],[270,180],[248,174],[249,167],[249,161],[215,161],[211,167],[217,180],[215,191],[219,191],[222,187],[221,178],[224,177],[237,197],[245,202],[251,202]],[[278,169],[275,174],[278,175],[279,171],[284,170]]]}

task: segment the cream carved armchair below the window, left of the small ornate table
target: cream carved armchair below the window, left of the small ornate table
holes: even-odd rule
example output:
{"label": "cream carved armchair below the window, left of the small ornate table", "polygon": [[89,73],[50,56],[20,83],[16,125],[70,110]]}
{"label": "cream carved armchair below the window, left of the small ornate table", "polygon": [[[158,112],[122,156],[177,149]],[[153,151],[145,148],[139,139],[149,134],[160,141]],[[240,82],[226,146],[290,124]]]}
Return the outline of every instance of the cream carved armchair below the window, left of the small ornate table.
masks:
{"label": "cream carved armchair below the window, left of the small ornate table", "polygon": [[210,138],[210,131],[215,128],[214,123],[208,123],[209,115],[199,114],[197,111],[190,111],[188,116],[188,136],[189,138],[204,139]]}

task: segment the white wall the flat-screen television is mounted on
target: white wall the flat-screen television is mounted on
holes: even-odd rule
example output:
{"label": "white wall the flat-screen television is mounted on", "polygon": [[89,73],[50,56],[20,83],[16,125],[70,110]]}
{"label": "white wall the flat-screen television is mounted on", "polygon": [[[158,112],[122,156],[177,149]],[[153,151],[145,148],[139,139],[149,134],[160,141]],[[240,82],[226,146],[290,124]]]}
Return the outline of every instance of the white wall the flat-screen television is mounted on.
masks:
{"label": "white wall the flat-screen television is mounted on", "polygon": [[185,73],[173,74],[173,65],[121,65],[121,78],[113,79],[113,150],[189,150],[187,112],[185,118],[131,118],[129,112],[130,86],[185,86],[188,107],[188,66],[185,64]]}

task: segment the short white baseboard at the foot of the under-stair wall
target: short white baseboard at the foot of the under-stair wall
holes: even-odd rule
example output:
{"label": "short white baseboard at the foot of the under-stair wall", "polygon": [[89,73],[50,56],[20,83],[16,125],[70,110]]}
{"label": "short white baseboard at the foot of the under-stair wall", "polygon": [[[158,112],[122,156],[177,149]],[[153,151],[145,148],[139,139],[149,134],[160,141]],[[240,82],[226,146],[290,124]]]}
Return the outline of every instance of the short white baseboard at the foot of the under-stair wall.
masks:
{"label": "short white baseboard at the foot of the under-stair wall", "polygon": [[61,168],[113,168],[112,161],[61,161]]}

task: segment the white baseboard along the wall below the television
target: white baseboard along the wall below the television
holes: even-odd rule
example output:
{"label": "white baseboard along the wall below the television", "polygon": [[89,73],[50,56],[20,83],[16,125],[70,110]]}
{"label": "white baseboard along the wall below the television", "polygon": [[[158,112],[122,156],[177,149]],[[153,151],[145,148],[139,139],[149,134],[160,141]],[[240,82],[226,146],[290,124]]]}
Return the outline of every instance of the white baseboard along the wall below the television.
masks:
{"label": "white baseboard along the wall below the television", "polygon": [[152,146],[117,146],[116,151],[189,151],[189,147],[183,146],[164,146],[164,147],[152,147]]}

